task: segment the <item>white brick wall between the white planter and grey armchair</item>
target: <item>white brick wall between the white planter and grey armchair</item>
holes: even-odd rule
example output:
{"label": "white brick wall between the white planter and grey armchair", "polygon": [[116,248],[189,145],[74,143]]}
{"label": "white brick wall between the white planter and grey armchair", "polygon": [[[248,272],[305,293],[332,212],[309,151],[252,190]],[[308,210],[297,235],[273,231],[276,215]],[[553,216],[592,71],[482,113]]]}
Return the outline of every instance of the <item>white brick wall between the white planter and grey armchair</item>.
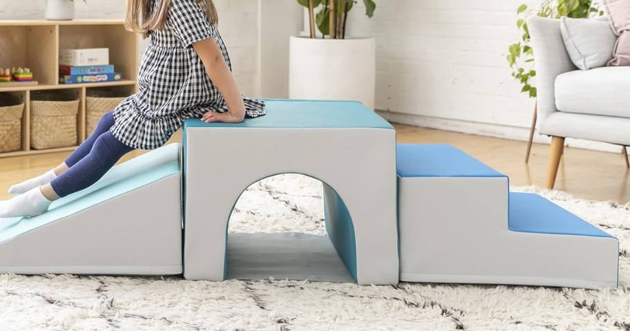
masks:
{"label": "white brick wall between the white planter and grey armchair", "polygon": [[351,35],[376,37],[377,109],[413,121],[530,124],[533,100],[519,93],[505,59],[523,0],[377,3],[372,19],[356,8],[348,22]]}

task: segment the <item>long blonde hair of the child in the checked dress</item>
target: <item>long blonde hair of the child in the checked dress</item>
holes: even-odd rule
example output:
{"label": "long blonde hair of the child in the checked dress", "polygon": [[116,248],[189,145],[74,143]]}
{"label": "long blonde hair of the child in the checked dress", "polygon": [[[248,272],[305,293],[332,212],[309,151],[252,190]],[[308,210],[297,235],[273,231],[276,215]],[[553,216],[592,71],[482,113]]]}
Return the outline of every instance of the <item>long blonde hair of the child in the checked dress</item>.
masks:
{"label": "long blonde hair of the child in the checked dress", "polygon": [[[158,1],[155,11],[152,2]],[[162,30],[169,18],[171,1],[173,0],[127,0],[125,28],[131,32],[140,33],[142,37],[149,37],[149,30]],[[179,0],[174,0],[179,1]],[[212,25],[219,23],[216,7],[212,0],[194,0],[207,11],[208,21]]]}

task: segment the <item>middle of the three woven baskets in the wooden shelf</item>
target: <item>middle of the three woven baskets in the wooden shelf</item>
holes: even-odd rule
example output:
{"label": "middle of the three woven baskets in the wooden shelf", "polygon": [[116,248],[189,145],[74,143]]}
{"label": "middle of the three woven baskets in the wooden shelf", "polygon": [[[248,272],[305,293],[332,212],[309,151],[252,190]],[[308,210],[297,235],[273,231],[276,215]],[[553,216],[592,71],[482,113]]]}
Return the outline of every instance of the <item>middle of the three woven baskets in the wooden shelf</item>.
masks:
{"label": "middle of the three woven baskets in the wooden shelf", "polygon": [[63,93],[33,94],[30,102],[30,147],[54,149],[77,144],[79,100]]}

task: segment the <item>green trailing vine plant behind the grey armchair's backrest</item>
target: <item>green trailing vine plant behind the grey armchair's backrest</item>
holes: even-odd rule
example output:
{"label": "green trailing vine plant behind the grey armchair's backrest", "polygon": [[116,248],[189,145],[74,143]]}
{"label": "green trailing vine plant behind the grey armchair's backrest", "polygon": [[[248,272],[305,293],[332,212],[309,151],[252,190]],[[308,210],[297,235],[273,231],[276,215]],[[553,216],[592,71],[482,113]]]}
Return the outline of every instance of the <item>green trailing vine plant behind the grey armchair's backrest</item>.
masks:
{"label": "green trailing vine plant behind the grey armchair's backrest", "polygon": [[543,0],[536,12],[528,10],[525,4],[519,6],[516,12],[518,15],[516,26],[522,31],[522,38],[519,42],[510,45],[507,59],[513,70],[512,77],[522,84],[521,92],[528,93],[529,97],[536,97],[536,87],[531,83],[536,71],[533,65],[534,53],[530,45],[527,17],[537,15],[559,19],[563,16],[586,18],[604,15],[596,0]]}

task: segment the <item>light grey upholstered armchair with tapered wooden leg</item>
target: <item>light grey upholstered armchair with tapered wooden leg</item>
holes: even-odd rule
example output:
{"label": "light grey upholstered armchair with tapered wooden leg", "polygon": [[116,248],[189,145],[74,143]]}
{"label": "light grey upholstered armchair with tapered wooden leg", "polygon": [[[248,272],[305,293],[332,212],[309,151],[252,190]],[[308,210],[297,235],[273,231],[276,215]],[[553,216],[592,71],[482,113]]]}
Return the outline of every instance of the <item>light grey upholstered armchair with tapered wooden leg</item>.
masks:
{"label": "light grey upholstered armchair with tapered wooden leg", "polygon": [[550,135],[546,187],[553,188],[564,138],[630,145],[630,67],[579,70],[566,52],[559,19],[527,20],[537,77],[539,133]]}

